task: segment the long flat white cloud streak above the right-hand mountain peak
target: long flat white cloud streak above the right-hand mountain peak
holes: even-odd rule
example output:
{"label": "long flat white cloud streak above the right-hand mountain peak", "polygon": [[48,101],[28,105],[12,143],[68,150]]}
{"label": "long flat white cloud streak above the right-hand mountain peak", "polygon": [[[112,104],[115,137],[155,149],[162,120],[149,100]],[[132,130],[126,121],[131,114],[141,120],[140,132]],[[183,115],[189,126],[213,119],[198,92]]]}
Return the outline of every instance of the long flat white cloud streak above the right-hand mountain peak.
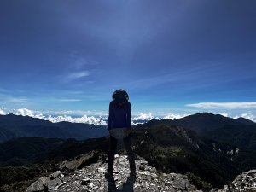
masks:
{"label": "long flat white cloud streak above the right-hand mountain peak", "polygon": [[256,102],[198,102],[193,104],[187,104],[188,107],[193,108],[225,108],[225,109],[247,109],[256,108]]}

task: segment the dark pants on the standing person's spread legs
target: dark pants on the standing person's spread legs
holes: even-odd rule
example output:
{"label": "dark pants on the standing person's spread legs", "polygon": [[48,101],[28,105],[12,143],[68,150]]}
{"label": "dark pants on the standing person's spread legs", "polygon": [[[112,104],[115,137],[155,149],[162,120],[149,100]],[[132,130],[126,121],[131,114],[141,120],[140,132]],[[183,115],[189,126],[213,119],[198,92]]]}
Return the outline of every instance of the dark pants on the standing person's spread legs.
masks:
{"label": "dark pants on the standing person's spread legs", "polygon": [[[126,149],[126,152],[128,155],[130,171],[135,172],[135,170],[136,170],[135,156],[134,156],[134,153],[131,148],[131,134],[129,134],[129,136],[125,137],[123,139],[123,141],[125,143],[125,149]],[[113,172],[113,160],[114,160],[114,154],[115,154],[115,150],[117,147],[117,143],[118,143],[118,140],[115,137],[110,136],[110,150],[108,152],[108,172]]]}

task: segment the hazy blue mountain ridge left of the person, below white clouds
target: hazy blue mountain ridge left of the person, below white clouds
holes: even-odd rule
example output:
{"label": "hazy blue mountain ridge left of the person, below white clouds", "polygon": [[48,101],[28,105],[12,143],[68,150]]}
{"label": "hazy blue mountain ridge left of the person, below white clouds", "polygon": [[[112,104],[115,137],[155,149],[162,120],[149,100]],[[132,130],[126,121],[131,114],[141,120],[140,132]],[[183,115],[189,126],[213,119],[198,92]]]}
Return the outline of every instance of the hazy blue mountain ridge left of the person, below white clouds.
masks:
{"label": "hazy blue mountain ridge left of the person, below white clouds", "polygon": [[108,135],[104,125],[60,122],[36,119],[28,116],[0,115],[0,142],[14,137],[45,137],[87,139]]}

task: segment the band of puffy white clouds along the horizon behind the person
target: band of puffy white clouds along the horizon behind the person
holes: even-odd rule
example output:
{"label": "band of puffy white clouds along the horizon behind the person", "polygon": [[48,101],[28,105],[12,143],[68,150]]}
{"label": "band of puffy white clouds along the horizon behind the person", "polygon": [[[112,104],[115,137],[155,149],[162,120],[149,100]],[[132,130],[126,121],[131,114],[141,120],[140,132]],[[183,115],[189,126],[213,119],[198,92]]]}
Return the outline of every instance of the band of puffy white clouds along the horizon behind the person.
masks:
{"label": "band of puffy white clouds along the horizon behind the person", "polygon": [[[91,111],[33,111],[27,108],[18,108],[18,109],[8,109],[0,108],[0,115],[5,115],[13,113],[15,115],[30,116],[32,118],[49,120],[53,123],[68,121],[72,123],[86,123],[93,125],[108,125],[108,114],[102,112],[91,112]],[[241,113],[240,115],[232,115],[231,113],[220,113],[225,117],[238,118],[243,117],[246,119],[253,120],[256,122],[256,117],[252,113]],[[145,123],[152,119],[180,119],[187,114],[178,114],[178,113],[167,113],[166,115],[156,116],[153,113],[137,113],[132,115],[131,123],[132,125],[137,125]]]}

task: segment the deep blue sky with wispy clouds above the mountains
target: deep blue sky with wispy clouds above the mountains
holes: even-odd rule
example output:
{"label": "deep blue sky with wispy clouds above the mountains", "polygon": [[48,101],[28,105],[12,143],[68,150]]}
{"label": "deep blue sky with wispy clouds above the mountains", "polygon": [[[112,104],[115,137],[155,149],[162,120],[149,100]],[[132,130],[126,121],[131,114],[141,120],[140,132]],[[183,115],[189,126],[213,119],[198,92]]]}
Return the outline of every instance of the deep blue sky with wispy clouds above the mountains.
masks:
{"label": "deep blue sky with wispy clouds above the mountains", "polygon": [[255,9],[253,0],[2,0],[0,112],[108,113],[122,88],[134,114],[255,119]]}

